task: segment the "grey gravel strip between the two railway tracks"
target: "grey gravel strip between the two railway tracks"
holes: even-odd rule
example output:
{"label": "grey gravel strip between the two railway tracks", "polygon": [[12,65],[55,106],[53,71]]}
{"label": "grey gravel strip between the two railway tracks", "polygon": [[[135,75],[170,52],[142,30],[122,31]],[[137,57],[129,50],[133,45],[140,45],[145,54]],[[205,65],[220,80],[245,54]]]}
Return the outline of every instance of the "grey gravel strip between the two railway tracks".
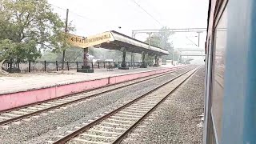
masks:
{"label": "grey gravel strip between the two railway tracks", "polygon": [[38,119],[31,118],[30,122],[22,122],[20,125],[12,124],[8,130],[0,129],[0,143],[45,143],[48,140],[56,139],[58,135],[66,134],[82,122],[95,119],[98,114],[103,114],[110,107],[121,105],[123,102],[137,98],[138,95],[166,82],[168,78],[174,77],[186,70],[180,70],[165,77],[157,78],[135,86],[129,86],[122,90],[102,94],[101,97],[92,98],[88,102],[82,102],[77,106],[60,109],[54,114],[47,113]]}

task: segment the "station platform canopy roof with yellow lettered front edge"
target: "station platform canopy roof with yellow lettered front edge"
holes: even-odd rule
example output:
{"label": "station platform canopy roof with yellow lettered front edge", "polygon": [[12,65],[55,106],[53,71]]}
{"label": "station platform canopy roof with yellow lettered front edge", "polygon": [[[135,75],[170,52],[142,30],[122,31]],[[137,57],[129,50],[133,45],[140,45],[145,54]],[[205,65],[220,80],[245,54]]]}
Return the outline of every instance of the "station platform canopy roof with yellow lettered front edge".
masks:
{"label": "station platform canopy roof with yellow lettered front edge", "polygon": [[94,46],[109,50],[129,51],[133,53],[140,53],[144,51],[147,54],[168,55],[167,50],[163,50],[157,46],[149,46],[149,44],[131,38],[125,34],[118,33],[114,30],[106,31],[102,34],[96,34],[89,37],[81,37],[70,34],[68,42],[73,46],[87,48]]}

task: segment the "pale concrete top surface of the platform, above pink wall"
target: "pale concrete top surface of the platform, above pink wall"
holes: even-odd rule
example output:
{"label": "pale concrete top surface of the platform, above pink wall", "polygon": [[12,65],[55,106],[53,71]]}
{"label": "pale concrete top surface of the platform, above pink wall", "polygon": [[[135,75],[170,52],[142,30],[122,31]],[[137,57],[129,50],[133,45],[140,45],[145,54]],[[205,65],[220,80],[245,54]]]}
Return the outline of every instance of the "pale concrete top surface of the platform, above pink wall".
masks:
{"label": "pale concrete top surface of the platform, above pink wall", "polygon": [[99,78],[108,78],[123,74],[134,74],[139,72],[161,70],[166,67],[149,67],[130,70],[107,71],[106,69],[94,69],[94,73],[77,73],[75,70],[61,71],[55,73],[40,74],[15,74],[15,76],[0,76],[0,94],[10,94],[19,91],[37,90],[52,86],[66,85],[76,82],[84,82]]}

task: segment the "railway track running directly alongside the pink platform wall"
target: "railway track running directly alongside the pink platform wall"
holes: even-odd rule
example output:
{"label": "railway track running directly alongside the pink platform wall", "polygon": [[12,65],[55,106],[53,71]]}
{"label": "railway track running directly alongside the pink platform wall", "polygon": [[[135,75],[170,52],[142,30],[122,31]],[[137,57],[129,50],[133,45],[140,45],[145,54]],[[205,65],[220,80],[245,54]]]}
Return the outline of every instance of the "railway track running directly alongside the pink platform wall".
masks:
{"label": "railway track running directly alongside the pink platform wall", "polygon": [[[178,70],[184,70],[186,68],[181,68]],[[54,99],[54,100],[49,100],[46,102],[41,102],[41,103],[37,103],[34,105],[30,105],[30,106],[23,106],[23,107],[19,107],[18,109],[14,109],[14,110],[9,110],[9,111],[5,111],[0,113],[0,126],[2,125],[6,125],[8,123],[11,122],[17,122],[20,120],[25,120],[26,118],[30,118],[30,117],[38,117],[38,114],[46,114],[46,112],[48,111],[52,111],[52,110],[56,110],[58,108],[65,108],[65,106],[69,106],[72,105],[75,102],[86,102],[86,101],[90,101],[90,98],[94,98],[97,97],[100,94],[106,94],[109,92],[112,92],[114,90],[120,90],[124,87],[127,86],[133,86],[136,85],[138,83],[141,82],[146,82],[146,81],[150,81],[154,78],[159,78],[159,77],[163,77],[166,76],[167,74],[171,74],[174,73],[178,70],[173,70],[173,71],[169,71],[166,72],[164,74],[156,74],[154,76],[150,76],[150,77],[146,77],[146,78],[139,78],[137,80],[133,80],[130,82],[122,82],[121,84],[117,84],[118,86],[115,86],[112,89],[108,89],[108,90],[99,90],[99,92],[96,92],[93,94],[88,94],[90,92],[84,92],[82,94],[74,94],[71,96],[67,96],[64,98],[58,98],[58,99]]]}

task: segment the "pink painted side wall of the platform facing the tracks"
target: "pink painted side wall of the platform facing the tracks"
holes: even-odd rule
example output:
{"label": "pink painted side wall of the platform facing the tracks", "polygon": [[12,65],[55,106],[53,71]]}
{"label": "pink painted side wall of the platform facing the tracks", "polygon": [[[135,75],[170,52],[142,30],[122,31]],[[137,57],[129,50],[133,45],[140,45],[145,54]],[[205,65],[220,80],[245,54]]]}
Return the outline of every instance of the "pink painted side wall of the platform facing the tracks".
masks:
{"label": "pink painted side wall of the platform facing the tracks", "polygon": [[61,86],[53,86],[48,88],[42,88],[38,90],[21,91],[11,94],[0,95],[0,111],[8,110],[18,106],[25,106],[35,102],[42,102],[51,98],[58,98],[68,94],[75,94],[85,90],[91,90],[94,88],[114,85],[119,82],[126,82],[137,78],[143,78],[146,76],[161,74],[170,70],[178,70],[184,66],[175,66],[161,70],[151,70],[146,72],[139,72],[134,74],[124,74],[113,76],[109,78],[100,78],[90,81],[71,83]]}

